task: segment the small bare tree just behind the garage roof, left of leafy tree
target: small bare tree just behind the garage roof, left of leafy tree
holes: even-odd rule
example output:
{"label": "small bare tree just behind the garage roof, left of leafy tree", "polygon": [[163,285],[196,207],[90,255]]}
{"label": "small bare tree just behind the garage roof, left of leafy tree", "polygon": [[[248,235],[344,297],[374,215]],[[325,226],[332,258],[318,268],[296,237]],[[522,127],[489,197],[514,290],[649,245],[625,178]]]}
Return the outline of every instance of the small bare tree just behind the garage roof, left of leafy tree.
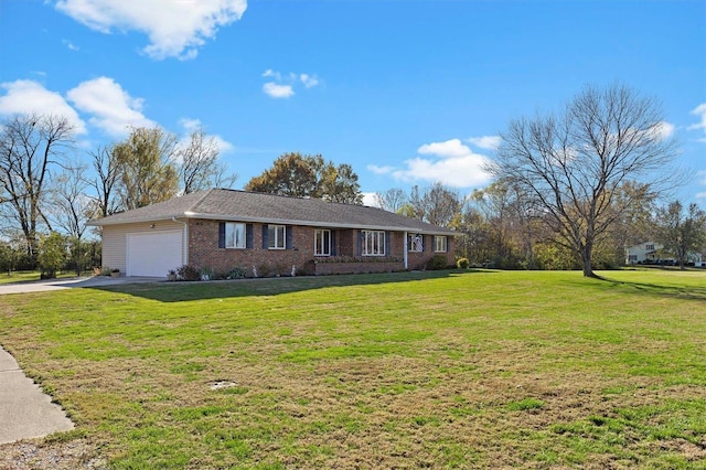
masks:
{"label": "small bare tree just behind the garage roof, left of leafy tree", "polygon": [[231,188],[236,173],[227,173],[225,163],[218,161],[218,142],[206,136],[202,128],[191,132],[188,143],[176,149],[180,162],[179,179],[184,194],[208,188]]}

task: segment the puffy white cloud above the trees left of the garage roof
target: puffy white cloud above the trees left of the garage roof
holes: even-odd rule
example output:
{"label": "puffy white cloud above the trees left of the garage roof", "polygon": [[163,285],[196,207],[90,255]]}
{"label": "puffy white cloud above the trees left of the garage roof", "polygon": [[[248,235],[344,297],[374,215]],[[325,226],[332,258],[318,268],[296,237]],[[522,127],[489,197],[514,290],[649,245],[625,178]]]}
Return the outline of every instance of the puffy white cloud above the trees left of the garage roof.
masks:
{"label": "puffy white cloud above the trees left of the garage roof", "polygon": [[129,127],[153,127],[142,114],[143,100],[132,98],[113,78],[98,77],[82,82],[68,90],[68,99],[83,113],[93,115],[88,121],[114,137],[124,137]]}

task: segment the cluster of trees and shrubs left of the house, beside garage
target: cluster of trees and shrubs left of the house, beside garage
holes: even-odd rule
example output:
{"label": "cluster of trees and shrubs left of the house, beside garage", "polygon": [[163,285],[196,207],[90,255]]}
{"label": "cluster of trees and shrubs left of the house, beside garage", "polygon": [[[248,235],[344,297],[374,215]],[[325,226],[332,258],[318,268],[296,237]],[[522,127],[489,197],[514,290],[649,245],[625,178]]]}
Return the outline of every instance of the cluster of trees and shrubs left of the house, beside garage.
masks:
{"label": "cluster of trees and shrubs left of the house, beside garage", "polygon": [[[15,115],[0,124],[0,268],[42,261],[77,271],[100,266],[99,242],[86,241],[92,218],[236,181],[202,128],[180,140],[159,127],[77,157],[76,129],[63,116]],[[52,234],[61,234],[61,236]],[[53,245],[61,247],[56,248]],[[53,253],[49,263],[41,249]]]}

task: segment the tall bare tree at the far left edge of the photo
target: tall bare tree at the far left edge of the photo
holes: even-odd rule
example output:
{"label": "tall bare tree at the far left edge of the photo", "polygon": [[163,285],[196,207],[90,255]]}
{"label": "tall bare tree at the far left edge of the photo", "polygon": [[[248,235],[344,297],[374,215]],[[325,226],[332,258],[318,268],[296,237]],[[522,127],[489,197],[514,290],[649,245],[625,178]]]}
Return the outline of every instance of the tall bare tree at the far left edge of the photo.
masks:
{"label": "tall bare tree at the far left edge of the photo", "polygon": [[0,216],[20,227],[31,258],[36,255],[39,226],[51,228],[44,193],[74,132],[66,117],[52,115],[18,115],[0,126]]}

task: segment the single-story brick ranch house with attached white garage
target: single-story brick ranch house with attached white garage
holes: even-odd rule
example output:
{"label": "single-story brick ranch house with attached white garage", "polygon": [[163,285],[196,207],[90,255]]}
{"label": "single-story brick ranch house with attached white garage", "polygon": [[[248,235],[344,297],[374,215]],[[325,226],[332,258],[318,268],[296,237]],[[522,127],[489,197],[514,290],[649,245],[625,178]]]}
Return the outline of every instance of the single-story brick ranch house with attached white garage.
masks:
{"label": "single-story brick ranch house with attached white garage", "polygon": [[126,211],[89,225],[103,231],[103,265],[126,276],[171,269],[250,277],[424,269],[453,265],[454,231],[376,207],[212,189]]}

